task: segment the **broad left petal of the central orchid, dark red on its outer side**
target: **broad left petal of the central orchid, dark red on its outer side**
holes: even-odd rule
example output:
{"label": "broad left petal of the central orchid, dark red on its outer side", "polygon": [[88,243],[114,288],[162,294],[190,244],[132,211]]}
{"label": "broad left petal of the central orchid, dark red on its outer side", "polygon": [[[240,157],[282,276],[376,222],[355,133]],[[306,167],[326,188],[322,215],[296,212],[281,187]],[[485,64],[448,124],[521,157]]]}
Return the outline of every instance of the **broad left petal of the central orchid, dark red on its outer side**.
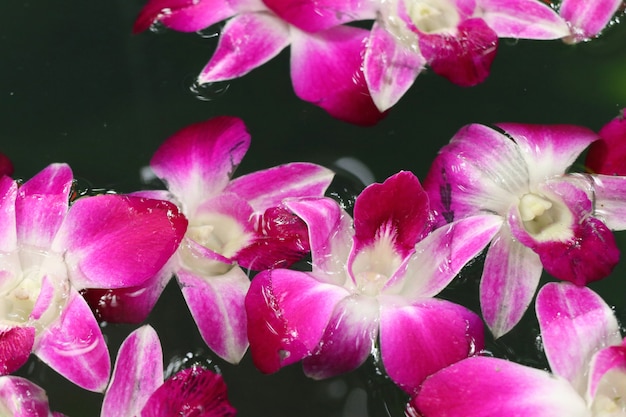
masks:
{"label": "broad left petal of the central orchid, dark red on its outer side", "polygon": [[256,367],[272,373],[310,355],[335,306],[347,296],[344,288],[304,272],[274,269],[254,277],[245,306]]}

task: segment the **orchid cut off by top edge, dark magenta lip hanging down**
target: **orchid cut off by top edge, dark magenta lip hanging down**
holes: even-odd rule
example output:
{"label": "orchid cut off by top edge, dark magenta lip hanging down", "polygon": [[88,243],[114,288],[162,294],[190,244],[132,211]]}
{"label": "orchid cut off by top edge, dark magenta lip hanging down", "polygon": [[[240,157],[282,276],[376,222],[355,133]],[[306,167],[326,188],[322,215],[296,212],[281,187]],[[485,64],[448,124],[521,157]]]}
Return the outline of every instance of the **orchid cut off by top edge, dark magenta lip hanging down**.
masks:
{"label": "orchid cut off by top edge, dark magenta lip hanging down", "polygon": [[563,19],[537,0],[379,0],[377,8],[364,73],[381,111],[404,95],[426,64],[455,84],[473,86],[489,75],[498,38],[569,34]]}

